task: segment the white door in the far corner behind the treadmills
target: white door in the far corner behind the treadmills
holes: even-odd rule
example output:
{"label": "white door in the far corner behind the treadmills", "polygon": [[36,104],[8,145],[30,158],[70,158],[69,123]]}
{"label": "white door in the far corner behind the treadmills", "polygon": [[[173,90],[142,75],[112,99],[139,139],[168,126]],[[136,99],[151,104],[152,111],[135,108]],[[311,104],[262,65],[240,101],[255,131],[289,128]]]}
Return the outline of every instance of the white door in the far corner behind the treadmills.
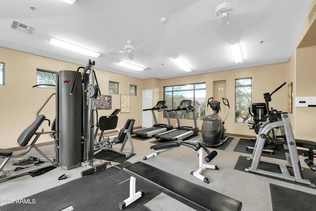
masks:
{"label": "white door in the far corner behind the treadmills", "polygon": [[[143,90],[143,109],[153,108],[153,89]],[[153,114],[152,111],[143,111],[142,127],[153,126]]]}

